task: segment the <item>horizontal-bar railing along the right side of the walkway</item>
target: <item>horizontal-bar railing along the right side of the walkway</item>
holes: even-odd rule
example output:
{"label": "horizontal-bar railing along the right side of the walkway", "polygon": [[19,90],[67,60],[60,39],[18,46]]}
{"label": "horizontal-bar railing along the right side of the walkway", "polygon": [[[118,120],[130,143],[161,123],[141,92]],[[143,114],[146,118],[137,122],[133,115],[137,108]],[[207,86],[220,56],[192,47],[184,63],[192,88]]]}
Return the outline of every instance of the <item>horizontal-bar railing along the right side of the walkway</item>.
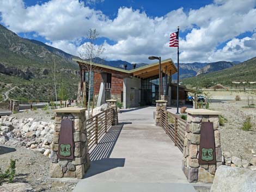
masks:
{"label": "horizontal-bar railing along the right side of the walkway", "polygon": [[175,146],[183,152],[187,121],[181,119],[178,115],[160,110],[160,125],[164,131],[173,140]]}

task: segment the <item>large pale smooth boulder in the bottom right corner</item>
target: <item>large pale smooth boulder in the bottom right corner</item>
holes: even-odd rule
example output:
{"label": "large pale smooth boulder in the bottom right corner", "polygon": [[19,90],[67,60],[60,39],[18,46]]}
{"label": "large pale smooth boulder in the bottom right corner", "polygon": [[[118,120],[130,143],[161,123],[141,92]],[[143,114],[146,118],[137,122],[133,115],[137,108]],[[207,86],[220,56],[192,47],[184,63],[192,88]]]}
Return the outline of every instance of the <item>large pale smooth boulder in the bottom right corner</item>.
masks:
{"label": "large pale smooth boulder in the bottom right corner", "polygon": [[211,192],[256,192],[256,171],[221,165],[216,173]]}

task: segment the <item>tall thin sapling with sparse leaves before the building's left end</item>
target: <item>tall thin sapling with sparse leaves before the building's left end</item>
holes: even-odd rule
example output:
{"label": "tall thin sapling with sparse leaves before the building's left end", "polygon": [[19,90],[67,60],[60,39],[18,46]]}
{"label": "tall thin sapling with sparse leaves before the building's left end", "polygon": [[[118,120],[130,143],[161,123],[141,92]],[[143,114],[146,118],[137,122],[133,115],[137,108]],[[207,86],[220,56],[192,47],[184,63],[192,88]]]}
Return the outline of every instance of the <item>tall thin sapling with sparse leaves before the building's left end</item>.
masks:
{"label": "tall thin sapling with sparse leaves before the building's left end", "polygon": [[[94,71],[95,67],[93,67],[92,62],[93,59],[96,57],[100,57],[100,55],[105,51],[105,48],[103,48],[103,44],[96,45],[96,40],[98,39],[99,34],[96,32],[96,29],[89,29],[89,32],[87,34],[87,40],[85,44],[82,45],[81,51],[78,52],[80,54],[80,58],[84,61],[84,63],[89,62],[89,65],[86,65],[86,71],[89,73],[88,75],[88,83],[85,83],[85,85],[88,85],[89,88],[89,94],[88,94],[88,118],[90,117],[90,92],[91,92],[91,75],[92,71]],[[83,87],[83,89],[86,89],[86,87]],[[85,97],[85,94],[83,94],[83,97]],[[86,103],[84,103],[85,105]]]}

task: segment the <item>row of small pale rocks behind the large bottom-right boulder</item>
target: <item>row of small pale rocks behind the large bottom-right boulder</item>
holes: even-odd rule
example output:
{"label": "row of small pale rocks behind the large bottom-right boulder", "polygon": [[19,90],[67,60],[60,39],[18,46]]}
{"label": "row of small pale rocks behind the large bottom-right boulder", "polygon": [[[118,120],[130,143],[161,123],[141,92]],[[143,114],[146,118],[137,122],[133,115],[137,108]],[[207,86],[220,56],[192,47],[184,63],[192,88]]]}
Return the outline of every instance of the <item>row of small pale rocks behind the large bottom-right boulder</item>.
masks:
{"label": "row of small pale rocks behind the large bottom-right boulder", "polygon": [[256,154],[254,154],[254,150],[252,150],[252,154],[253,154],[253,157],[251,161],[249,161],[246,159],[241,159],[236,156],[231,156],[231,153],[225,152],[224,153],[225,165],[231,166],[231,167],[256,170]]}

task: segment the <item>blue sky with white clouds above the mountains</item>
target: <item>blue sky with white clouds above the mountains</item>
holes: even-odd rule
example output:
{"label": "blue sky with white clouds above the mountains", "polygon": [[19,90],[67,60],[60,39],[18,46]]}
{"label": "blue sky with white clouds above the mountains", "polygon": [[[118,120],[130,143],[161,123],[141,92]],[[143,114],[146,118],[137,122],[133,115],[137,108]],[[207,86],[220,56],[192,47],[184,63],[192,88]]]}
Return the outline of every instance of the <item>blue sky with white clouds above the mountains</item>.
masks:
{"label": "blue sky with white clouds above the mountains", "polygon": [[0,0],[0,23],[22,38],[78,55],[88,30],[106,60],[177,61],[170,33],[180,26],[180,63],[256,57],[256,0]]}

